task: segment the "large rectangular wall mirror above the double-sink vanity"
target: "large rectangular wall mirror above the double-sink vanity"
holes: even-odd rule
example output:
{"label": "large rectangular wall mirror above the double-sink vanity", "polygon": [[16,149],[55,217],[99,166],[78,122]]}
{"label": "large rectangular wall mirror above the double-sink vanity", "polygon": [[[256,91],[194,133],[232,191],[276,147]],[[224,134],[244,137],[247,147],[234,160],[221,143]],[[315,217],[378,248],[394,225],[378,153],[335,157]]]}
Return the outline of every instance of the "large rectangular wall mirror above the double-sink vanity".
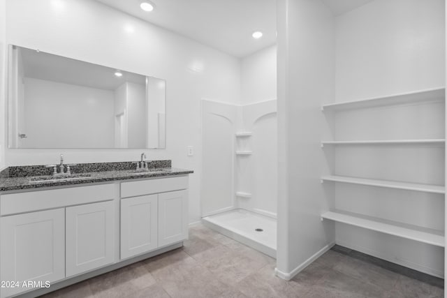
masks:
{"label": "large rectangular wall mirror above the double-sink vanity", "polygon": [[166,81],[10,45],[10,148],[165,148]]}

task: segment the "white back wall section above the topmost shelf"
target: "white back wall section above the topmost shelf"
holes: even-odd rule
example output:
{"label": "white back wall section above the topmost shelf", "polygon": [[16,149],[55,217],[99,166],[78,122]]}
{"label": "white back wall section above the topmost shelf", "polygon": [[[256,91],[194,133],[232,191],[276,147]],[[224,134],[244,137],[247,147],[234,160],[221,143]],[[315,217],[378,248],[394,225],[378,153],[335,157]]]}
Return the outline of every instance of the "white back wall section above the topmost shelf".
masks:
{"label": "white back wall section above the topmost shelf", "polygon": [[443,87],[444,31],[442,0],[375,0],[338,16],[335,100]]}

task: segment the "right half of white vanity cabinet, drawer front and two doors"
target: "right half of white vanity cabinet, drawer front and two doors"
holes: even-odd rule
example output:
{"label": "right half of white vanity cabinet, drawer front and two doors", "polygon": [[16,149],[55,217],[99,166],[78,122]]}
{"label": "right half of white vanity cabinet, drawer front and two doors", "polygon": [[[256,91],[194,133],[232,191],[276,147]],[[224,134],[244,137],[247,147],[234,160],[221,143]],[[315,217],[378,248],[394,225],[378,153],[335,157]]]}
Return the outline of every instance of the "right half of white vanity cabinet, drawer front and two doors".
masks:
{"label": "right half of white vanity cabinet, drawer front and two doors", "polygon": [[188,238],[186,188],[187,176],[121,184],[121,259]]}

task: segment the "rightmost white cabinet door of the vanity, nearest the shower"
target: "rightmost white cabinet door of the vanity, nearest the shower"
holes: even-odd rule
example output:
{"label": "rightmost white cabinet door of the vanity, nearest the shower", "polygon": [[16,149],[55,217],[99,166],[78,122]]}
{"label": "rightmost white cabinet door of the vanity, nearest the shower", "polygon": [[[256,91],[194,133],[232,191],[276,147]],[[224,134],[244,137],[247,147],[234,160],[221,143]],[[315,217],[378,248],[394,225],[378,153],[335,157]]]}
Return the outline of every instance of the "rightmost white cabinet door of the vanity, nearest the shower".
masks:
{"label": "rightmost white cabinet door of the vanity, nearest the shower", "polygon": [[159,194],[159,246],[188,238],[188,192]]}

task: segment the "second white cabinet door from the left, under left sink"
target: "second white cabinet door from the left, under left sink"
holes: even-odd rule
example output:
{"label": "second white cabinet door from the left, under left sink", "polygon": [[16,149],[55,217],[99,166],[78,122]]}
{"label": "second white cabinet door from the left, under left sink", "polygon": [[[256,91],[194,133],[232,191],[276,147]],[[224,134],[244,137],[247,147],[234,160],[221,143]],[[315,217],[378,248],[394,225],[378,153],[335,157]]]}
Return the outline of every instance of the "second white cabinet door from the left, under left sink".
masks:
{"label": "second white cabinet door from the left, under left sink", "polygon": [[113,201],[66,208],[66,276],[112,264],[115,260]]}

